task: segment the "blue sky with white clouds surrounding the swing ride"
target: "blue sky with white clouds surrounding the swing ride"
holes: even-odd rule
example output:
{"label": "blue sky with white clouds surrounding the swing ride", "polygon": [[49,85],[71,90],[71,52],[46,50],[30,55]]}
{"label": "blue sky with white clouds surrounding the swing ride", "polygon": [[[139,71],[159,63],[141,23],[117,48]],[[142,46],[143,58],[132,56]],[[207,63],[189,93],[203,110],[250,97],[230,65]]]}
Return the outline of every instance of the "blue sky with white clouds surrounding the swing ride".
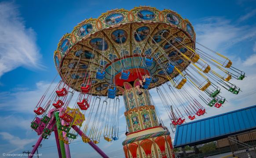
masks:
{"label": "blue sky with white clouds surrounding the swing ride", "polygon": [[[227,55],[236,67],[246,72],[244,82],[234,80],[242,88],[239,95],[255,90],[255,0],[0,1],[0,157],[1,153],[31,150],[36,142],[37,135],[29,127],[33,107],[57,73],[53,52],[59,39],[85,18],[97,18],[114,8],[130,10],[139,5],[171,9],[188,18],[197,33],[197,41]],[[224,94],[228,99],[237,97]],[[248,95],[201,118],[255,104],[255,97]],[[123,113],[124,109],[120,111]],[[124,118],[120,121],[125,130]],[[102,140],[99,147],[106,153],[121,153],[124,138],[123,135],[111,144]],[[71,144],[70,150],[74,158],[85,152],[97,156],[82,142]],[[53,136],[43,142],[40,152],[43,157],[57,156]]]}

